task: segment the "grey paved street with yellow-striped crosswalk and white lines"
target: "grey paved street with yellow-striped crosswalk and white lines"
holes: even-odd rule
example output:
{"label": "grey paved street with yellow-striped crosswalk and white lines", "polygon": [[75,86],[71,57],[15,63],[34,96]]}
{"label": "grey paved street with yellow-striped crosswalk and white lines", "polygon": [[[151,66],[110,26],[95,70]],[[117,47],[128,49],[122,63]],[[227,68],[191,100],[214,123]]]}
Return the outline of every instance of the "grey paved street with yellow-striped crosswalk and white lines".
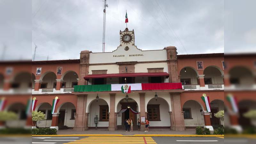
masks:
{"label": "grey paved street with yellow-striped crosswalk and white lines", "polygon": [[32,137],[33,144],[222,144],[221,137]]}

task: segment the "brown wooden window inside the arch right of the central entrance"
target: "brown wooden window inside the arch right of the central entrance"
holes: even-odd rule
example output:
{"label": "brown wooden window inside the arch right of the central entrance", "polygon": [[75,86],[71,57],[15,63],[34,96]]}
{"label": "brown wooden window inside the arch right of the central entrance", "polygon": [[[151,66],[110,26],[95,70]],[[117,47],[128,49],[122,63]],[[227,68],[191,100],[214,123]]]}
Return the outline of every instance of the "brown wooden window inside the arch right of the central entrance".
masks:
{"label": "brown wooden window inside the arch right of the central entrance", "polygon": [[148,110],[147,117],[149,121],[161,121],[159,105],[148,105],[147,110]]}

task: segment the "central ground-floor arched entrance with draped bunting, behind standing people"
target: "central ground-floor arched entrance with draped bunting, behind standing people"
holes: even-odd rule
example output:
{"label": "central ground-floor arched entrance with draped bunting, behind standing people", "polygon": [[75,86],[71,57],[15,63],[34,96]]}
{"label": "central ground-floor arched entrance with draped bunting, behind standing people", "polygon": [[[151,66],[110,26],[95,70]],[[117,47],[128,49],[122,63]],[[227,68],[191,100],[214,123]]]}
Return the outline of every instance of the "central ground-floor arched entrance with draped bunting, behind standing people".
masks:
{"label": "central ground-floor arched entrance with draped bunting, behind standing people", "polygon": [[119,128],[124,128],[125,119],[133,119],[133,125],[137,125],[137,118],[139,118],[139,107],[137,102],[132,99],[125,98],[120,100],[117,104],[117,126]]}

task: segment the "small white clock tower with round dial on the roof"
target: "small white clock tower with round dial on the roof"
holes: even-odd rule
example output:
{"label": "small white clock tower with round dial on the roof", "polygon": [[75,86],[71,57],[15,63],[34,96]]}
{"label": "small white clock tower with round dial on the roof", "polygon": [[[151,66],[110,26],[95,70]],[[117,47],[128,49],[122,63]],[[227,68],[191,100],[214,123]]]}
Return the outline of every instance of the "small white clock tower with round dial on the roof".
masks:
{"label": "small white clock tower with round dial on the roof", "polygon": [[124,31],[120,30],[120,46],[131,46],[134,45],[134,30],[129,31],[125,28]]}

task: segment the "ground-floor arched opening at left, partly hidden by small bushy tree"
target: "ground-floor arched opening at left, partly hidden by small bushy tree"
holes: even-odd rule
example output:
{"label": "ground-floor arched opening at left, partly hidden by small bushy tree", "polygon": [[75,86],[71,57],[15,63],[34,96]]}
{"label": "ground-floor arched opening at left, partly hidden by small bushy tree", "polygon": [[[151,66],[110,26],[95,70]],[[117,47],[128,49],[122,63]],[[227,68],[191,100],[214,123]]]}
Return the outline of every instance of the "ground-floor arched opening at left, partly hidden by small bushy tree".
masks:
{"label": "ground-floor arched opening at left, partly hidden by small bushy tree", "polygon": [[52,106],[48,102],[40,103],[35,111],[41,111],[45,114],[45,120],[37,121],[36,126],[38,127],[50,127],[52,124]]}

